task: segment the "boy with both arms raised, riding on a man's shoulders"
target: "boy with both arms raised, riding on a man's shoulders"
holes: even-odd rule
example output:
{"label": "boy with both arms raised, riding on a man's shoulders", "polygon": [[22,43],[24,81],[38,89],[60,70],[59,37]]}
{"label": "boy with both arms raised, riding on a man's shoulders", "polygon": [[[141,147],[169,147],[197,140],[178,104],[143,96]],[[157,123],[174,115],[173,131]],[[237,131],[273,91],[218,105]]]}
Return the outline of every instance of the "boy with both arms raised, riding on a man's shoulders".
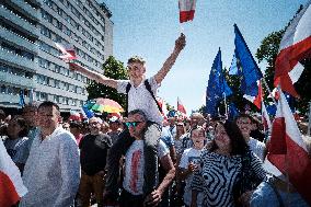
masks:
{"label": "boy with both arms raised, riding on a man's shoulders", "polygon": [[[186,41],[185,35],[181,36],[175,41],[175,47],[173,53],[163,64],[162,68],[151,78],[146,79],[146,66],[145,60],[140,57],[133,57],[128,59],[127,69],[129,80],[114,80],[110,79],[101,73],[83,69],[81,67],[76,70],[85,73],[89,78],[94,79],[96,82],[105,84],[107,87],[117,89],[118,93],[128,95],[128,112],[134,110],[141,110],[150,120],[145,131],[145,172],[146,180],[143,188],[147,194],[152,192],[156,187],[157,181],[157,145],[161,135],[162,116],[159,112],[158,105],[154,101],[157,96],[157,90],[161,82],[173,67],[180,53],[185,47]],[[149,83],[147,89],[146,80]],[[128,87],[130,84],[130,88]],[[151,93],[152,92],[152,93]],[[106,198],[115,198],[117,196],[117,179],[118,179],[118,163],[122,154],[129,148],[133,140],[128,139],[128,130],[124,130],[118,140],[113,145],[108,160],[107,160],[107,175],[106,175]],[[147,195],[146,194],[146,195]],[[110,202],[107,202],[110,203]]]}

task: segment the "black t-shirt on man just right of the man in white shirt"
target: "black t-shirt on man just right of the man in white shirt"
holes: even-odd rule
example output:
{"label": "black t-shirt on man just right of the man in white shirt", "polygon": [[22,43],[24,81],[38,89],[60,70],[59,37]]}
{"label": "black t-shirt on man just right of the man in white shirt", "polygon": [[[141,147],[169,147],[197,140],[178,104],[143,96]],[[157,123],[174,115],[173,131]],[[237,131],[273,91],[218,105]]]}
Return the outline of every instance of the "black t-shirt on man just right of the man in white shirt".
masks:
{"label": "black t-shirt on man just right of the man in white shirt", "polygon": [[80,162],[81,169],[88,175],[94,175],[105,170],[107,151],[112,146],[112,139],[108,135],[87,135],[80,141],[81,149]]}

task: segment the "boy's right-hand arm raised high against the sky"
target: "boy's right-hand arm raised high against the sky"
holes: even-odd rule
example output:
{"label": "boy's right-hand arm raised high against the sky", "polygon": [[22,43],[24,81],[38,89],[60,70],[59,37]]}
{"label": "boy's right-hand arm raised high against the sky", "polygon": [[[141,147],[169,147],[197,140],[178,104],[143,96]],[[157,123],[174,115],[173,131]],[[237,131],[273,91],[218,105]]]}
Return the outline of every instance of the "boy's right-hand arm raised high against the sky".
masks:
{"label": "boy's right-hand arm raised high against the sky", "polygon": [[158,71],[158,73],[154,76],[158,84],[162,82],[162,80],[165,78],[168,72],[171,70],[172,66],[175,64],[175,60],[177,59],[180,53],[183,50],[185,45],[186,45],[186,37],[182,33],[181,36],[175,41],[175,47],[173,53],[165,60],[165,62],[163,64],[162,68]]}

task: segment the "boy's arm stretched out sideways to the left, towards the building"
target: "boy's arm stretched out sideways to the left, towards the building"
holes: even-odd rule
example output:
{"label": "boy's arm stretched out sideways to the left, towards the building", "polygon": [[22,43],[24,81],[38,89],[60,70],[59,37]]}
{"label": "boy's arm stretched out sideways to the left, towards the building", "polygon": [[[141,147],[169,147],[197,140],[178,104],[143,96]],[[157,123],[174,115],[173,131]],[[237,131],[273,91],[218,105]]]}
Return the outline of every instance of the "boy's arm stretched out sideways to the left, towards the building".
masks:
{"label": "boy's arm stretched out sideways to the left, towards the building", "polygon": [[114,88],[114,89],[117,88],[117,81],[116,80],[110,79],[110,78],[107,78],[104,74],[101,74],[99,72],[88,70],[87,68],[83,68],[81,66],[70,67],[70,69],[76,70],[78,72],[81,72],[83,74],[87,74],[88,78],[96,81],[97,83],[102,83],[104,85],[107,85],[107,87],[111,87],[111,88]]}

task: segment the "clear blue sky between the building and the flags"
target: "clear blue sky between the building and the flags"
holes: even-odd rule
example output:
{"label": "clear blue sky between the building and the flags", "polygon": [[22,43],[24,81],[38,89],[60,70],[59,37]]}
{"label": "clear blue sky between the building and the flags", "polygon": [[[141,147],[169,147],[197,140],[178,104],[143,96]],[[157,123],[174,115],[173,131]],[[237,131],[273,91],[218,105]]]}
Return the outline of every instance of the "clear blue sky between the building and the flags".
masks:
{"label": "clear blue sky between the building and the flags", "polygon": [[[189,114],[205,104],[205,90],[214,58],[221,48],[230,67],[237,23],[252,54],[269,33],[281,30],[308,0],[197,0],[193,22],[180,24],[177,0],[104,0],[114,22],[114,56],[126,62],[134,55],[147,60],[153,76],[174,47],[181,31],[187,45],[158,95],[176,107],[177,96]],[[264,69],[264,64],[260,67]]]}

